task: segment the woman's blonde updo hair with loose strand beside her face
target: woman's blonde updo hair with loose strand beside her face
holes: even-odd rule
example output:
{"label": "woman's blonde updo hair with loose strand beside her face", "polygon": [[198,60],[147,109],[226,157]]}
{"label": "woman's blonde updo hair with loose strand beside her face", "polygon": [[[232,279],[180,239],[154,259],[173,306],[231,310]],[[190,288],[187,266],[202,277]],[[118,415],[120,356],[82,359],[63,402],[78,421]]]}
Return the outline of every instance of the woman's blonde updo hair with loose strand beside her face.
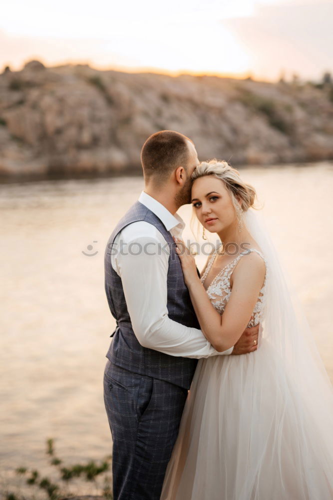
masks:
{"label": "woman's blonde updo hair with loose strand beside her face", "polygon": [[[244,180],[240,177],[239,171],[230,166],[227,161],[218,160],[216,158],[211,159],[210,161],[202,161],[200,165],[195,168],[191,178],[194,181],[195,179],[206,175],[213,175],[214,177],[223,180],[226,188],[230,192],[238,220],[241,218],[240,208],[246,212],[251,206],[254,205],[254,201],[257,196],[255,188],[251,184],[244,182]],[[241,205],[238,200],[241,202]],[[194,219],[195,210],[192,212],[191,228],[193,234],[197,233],[196,236],[198,237],[198,232],[194,230]]]}

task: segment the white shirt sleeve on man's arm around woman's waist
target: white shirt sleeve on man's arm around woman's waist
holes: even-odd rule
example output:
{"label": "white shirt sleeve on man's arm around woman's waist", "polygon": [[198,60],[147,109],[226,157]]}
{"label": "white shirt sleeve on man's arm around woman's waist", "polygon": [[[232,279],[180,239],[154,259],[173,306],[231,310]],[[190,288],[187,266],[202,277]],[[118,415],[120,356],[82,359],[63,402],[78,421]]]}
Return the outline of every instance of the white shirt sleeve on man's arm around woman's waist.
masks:
{"label": "white shirt sleeve on man's arm around woman's waist", "polygon": [[169,318],[169,254],[161,239],[151,235],[127,238],[126,248],[127,251],[116,255],[114,268],[121,277],[127,310],[140,344],[172,356],[201,358],[231,354],[233,347],[218,352],[200,329]]}

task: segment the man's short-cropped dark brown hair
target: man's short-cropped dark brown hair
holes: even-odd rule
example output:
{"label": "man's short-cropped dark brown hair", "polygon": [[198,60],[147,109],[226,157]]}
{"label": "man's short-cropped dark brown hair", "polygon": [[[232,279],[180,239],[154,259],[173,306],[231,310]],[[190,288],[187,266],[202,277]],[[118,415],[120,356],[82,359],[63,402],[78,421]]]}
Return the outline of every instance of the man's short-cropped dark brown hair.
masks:
{"label": "man's short-cropped dark brown hair", "polygon": [[186,135],[174,130],[161,130],[150,135],[141,150],[145,181],[152,179],[160,184],[177,166],[186,169],[189,156],[187,140],[193,143]]}

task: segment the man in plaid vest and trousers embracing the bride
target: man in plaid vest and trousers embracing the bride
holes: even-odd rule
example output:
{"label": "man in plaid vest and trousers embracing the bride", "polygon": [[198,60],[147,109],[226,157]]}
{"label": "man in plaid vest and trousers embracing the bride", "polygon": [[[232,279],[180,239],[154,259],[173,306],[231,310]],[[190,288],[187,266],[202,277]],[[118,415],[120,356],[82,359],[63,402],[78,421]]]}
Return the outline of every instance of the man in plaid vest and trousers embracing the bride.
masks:
{"label": "man in plaid vest and trousers embracing the bride", "polygon": [[113,438],[115,500],[158,500],[192,377],[201,357],[256,350],[259,327],[217,352],[185,286],[173,236],[199,164],[191,139],[172,130],[143,145],[145,187],[109,237],[105,291],[117,327],[106,354],[104,401]]}

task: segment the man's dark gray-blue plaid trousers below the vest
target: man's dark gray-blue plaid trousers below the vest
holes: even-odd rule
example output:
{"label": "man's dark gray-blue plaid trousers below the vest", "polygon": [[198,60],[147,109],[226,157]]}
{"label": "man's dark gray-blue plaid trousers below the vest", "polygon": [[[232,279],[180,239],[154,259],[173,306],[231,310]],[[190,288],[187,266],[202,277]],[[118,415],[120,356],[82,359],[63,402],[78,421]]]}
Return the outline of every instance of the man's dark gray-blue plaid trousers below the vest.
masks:
{"label": "man's dark gray-blue plaid trousers below the vest", "polygon": [[114,500],[158,500],[187,389],[107,362],[104,402],[113,438]]}

